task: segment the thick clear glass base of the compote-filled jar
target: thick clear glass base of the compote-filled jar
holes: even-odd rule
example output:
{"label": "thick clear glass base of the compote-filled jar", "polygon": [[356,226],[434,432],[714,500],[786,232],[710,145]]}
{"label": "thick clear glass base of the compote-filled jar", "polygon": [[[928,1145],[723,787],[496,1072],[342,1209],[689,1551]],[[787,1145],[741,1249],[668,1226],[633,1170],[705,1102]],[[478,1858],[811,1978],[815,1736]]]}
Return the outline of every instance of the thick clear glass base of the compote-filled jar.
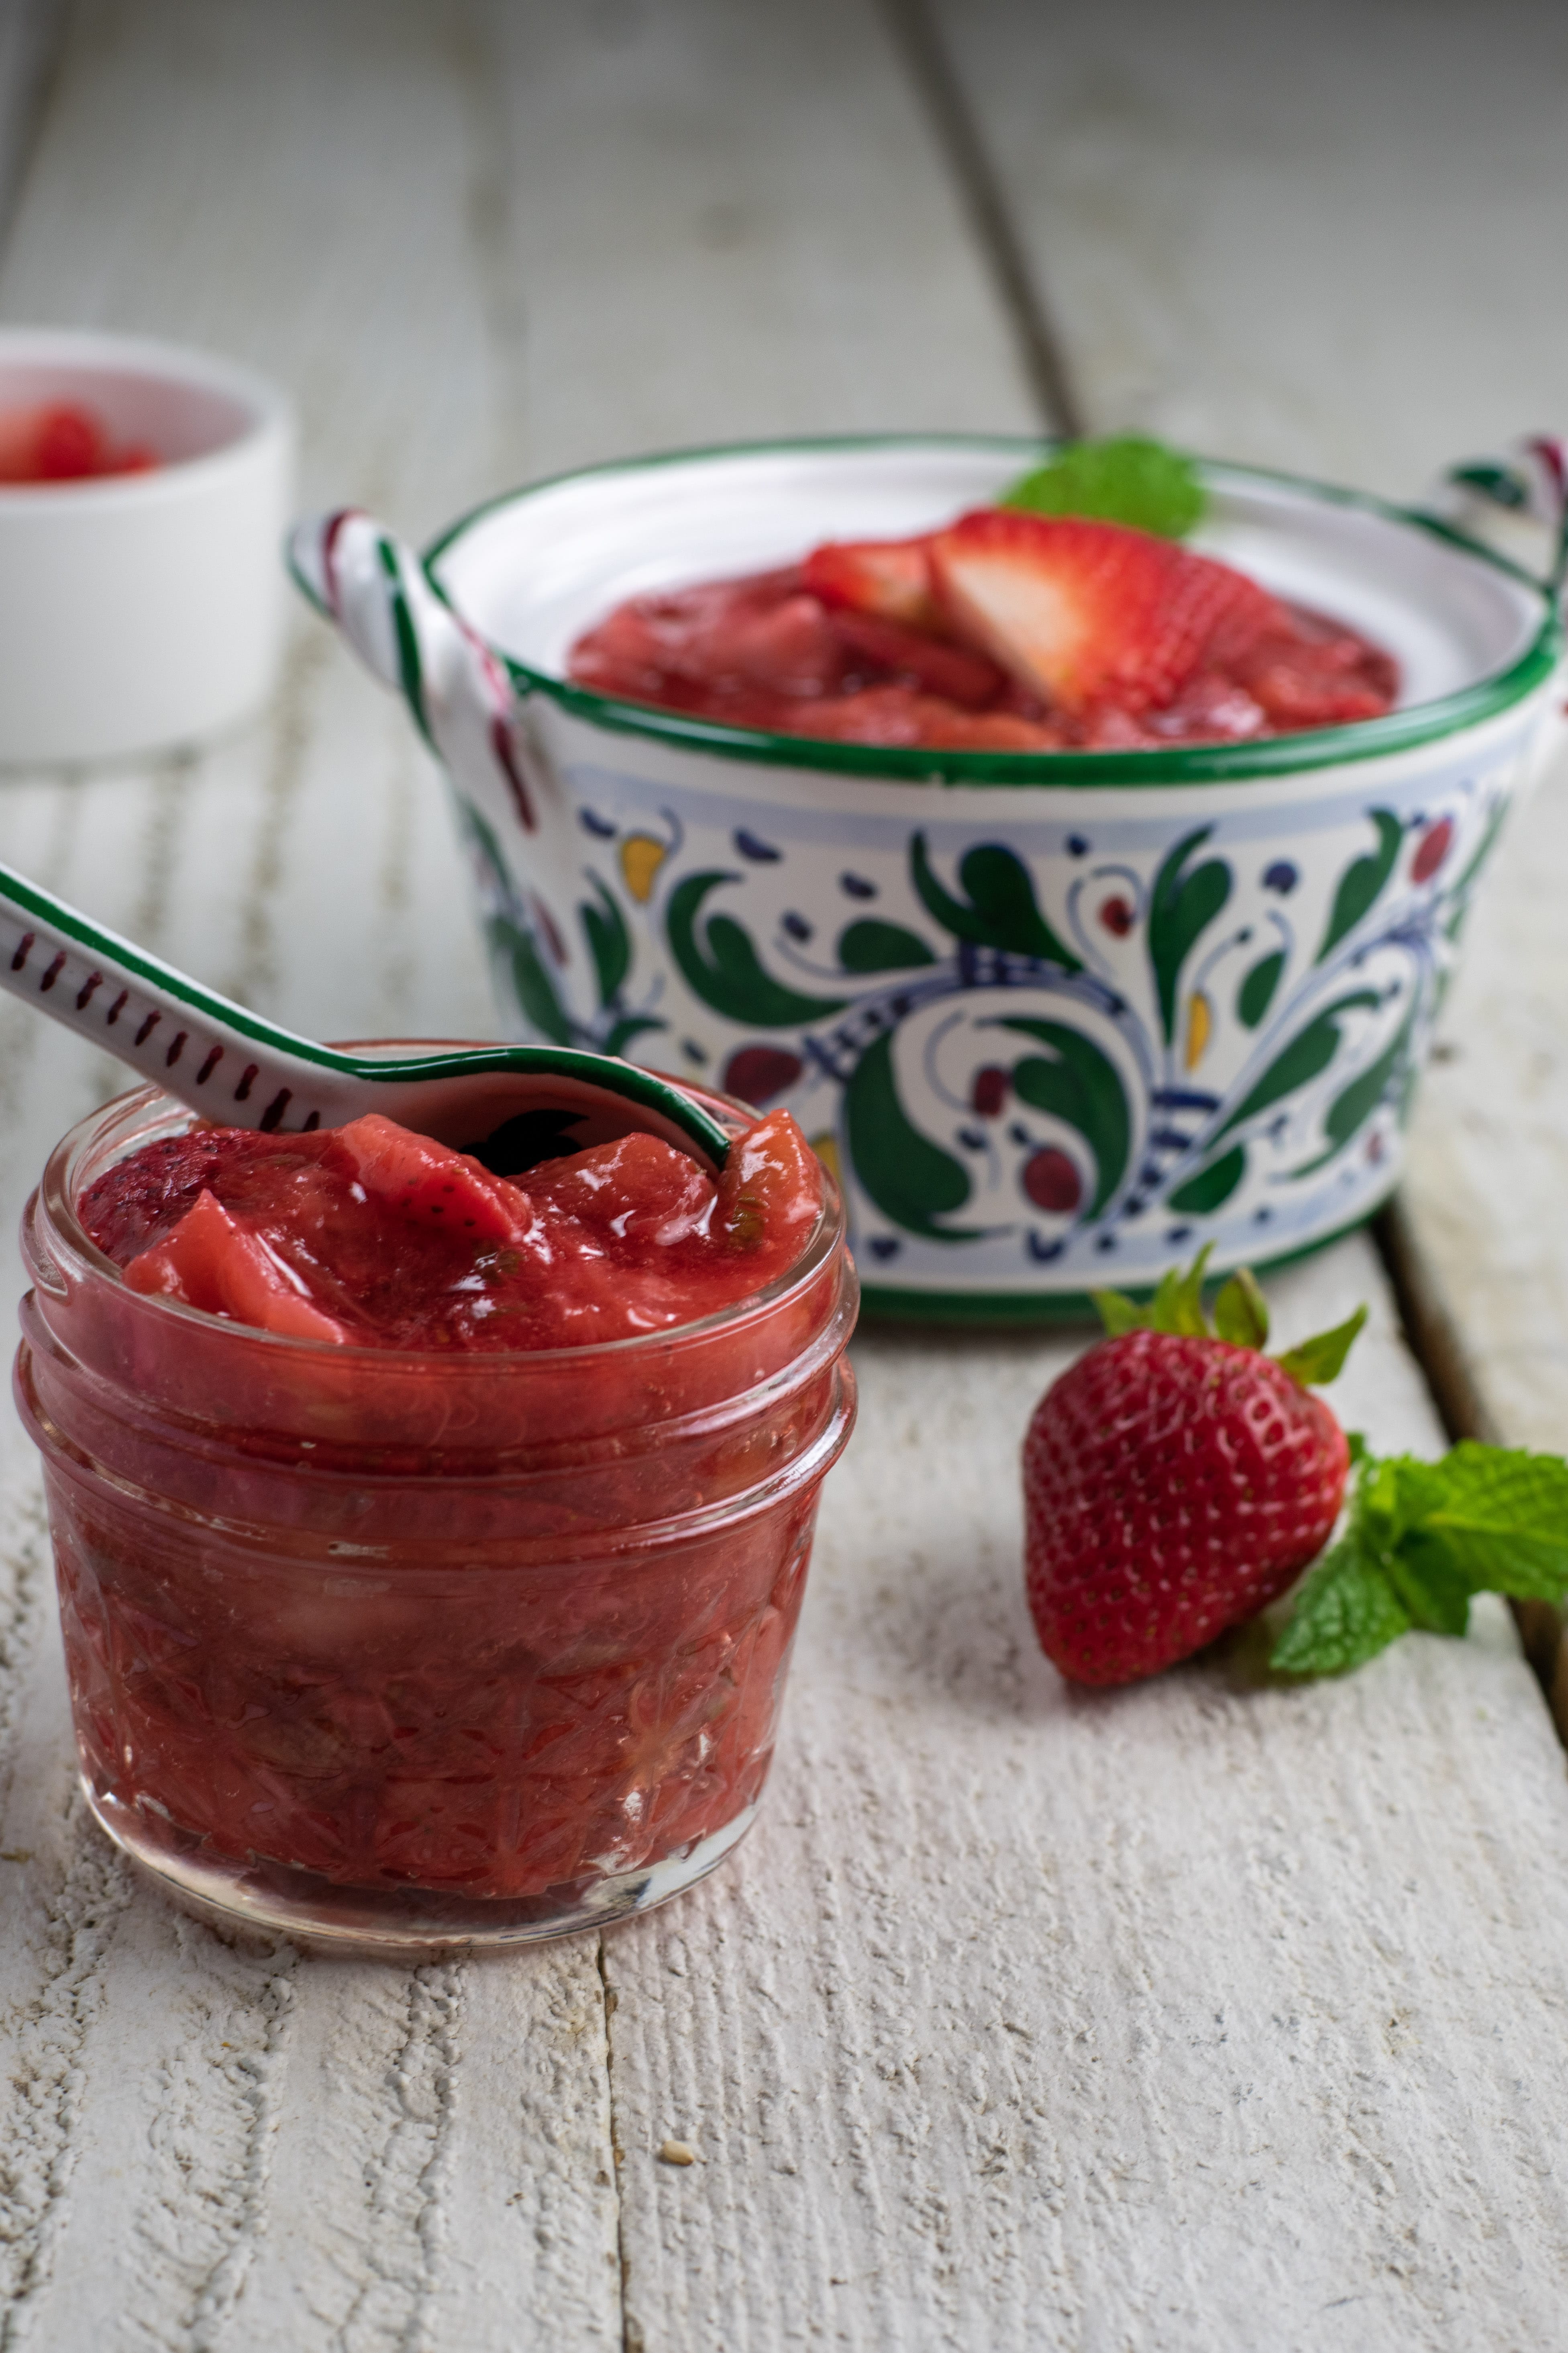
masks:
{"label": "thick clear glass base of the compote-filled jar", "polygon": [[132,1857],[183,1911],[219,1929],[263,1929],[339,1953],[421,1960],[430,1955],[505,1951],[614,1927],[632,1913],[668,1904],[708,1878],[736,1847],[757,1802],[679,1854],[635,1871],[607,1873],[592,1887],[567,1885],[536,1897],[461,1897],[430,1887],[336,1887],[315,1871],[287,1864],[237,1864],[193,1847],[181,1854],[150,1835],[143,1814],[85,1777],[87,1805],[101,1831]]}

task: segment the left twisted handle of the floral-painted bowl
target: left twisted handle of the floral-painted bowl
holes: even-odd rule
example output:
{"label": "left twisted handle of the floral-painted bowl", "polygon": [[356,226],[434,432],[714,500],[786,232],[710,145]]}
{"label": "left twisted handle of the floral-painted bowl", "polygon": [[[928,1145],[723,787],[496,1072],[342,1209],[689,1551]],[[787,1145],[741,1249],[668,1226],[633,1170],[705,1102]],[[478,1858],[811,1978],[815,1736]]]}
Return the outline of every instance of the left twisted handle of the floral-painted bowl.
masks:
{"label": "left twisted handle of the floral-painted bowl", "polygon": [[496,654],[437,598],[414,548],[346,506],[294,525],[289,572],[360,661],[397,687],[463,788],[501,793],[534,833],[538,812],[517,751],[520,696]]}

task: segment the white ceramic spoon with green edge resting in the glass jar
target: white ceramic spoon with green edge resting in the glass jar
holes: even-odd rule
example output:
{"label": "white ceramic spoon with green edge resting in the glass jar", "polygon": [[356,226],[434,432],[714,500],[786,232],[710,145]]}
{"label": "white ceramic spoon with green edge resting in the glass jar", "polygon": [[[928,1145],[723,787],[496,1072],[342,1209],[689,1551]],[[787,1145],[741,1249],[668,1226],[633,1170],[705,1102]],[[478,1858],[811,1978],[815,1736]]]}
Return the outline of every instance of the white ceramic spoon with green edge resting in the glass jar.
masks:
{"label": "white ceramic spoon with green edge resting in the glass jar", "polygon": [[0,984],[223,1127],[301,1132],[381,1111],[496,1174],[644,1132],[708,1167],[729,1139],[679,1087],[609,1054],[491,1045],[348,1054],[261,1021],[0,866]]}

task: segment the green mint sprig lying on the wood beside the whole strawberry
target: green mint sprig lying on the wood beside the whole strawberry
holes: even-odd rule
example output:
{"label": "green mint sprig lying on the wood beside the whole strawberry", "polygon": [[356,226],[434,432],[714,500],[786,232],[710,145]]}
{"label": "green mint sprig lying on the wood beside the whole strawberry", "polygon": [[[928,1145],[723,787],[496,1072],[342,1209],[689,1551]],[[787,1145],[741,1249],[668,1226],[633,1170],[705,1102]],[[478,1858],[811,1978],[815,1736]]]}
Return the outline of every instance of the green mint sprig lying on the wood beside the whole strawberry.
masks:
{"label": "green mint sprig lying on the wood beside the whole strawberry", "polygon": [[1352,1447],[1345,1532],[1295,1593],[1279,1673],[1347,1675],[1413,1626],[1462,1635],[1476,1593],[1568,1600],[1568,1461],[1474,1438],[1436,1464]]}

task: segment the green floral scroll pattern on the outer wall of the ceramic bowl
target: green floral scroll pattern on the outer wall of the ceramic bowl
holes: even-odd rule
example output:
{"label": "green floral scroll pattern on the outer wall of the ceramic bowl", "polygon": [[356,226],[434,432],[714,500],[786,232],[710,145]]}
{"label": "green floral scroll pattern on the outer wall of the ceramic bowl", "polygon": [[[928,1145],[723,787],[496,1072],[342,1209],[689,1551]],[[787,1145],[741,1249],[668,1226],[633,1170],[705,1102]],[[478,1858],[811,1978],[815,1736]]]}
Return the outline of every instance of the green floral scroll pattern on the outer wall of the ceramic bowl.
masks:
{"label": "green floral scroll pattern on the outer wall of the ceramic bowl", "polygon": [[1333,859],[1246,809],[1044,852],[936,812],[860,871],[625,784],[578,788],[548,896],[468,807],[503,995],[788,1104],[872,1289],[912,1294],[1081,1292],[1366,1214],[1507,802],[1500,772],[1347,798]]}

